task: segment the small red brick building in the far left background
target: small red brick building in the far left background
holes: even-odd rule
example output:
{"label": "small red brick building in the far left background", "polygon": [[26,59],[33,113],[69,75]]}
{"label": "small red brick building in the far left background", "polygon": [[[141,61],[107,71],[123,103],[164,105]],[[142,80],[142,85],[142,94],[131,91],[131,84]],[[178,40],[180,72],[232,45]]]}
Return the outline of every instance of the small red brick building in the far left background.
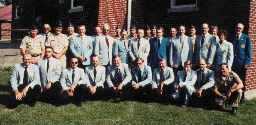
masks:
{"label": "small red brick building in the far left background", "polygon": [[[0,29],[11,29],[12,4],[0,8]],[[11,39],[11,31],[0,31],[0,40]]]}

